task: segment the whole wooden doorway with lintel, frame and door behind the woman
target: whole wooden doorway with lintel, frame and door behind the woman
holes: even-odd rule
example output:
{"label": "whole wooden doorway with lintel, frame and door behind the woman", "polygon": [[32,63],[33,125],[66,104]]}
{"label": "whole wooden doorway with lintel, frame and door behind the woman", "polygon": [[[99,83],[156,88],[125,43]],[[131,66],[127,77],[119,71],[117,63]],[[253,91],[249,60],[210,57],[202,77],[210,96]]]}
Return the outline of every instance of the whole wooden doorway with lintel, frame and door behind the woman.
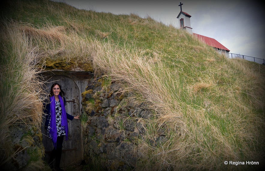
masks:
{"label": "whole wooden doorway with lintel, frame and door behind the woman", "polygon": [[[81,115],[81,93],[85,91],[88,81],[91,78],[91,72],[44,72],[42,77],[46,82],[47,93],[50,92],[50,87],[53,83],[59,83],[62,90],[65,92],[65,110],[72,116]],[[44,161],[49,161],[53,143],[50,137],[47,136],[47,130],[44,128],[46,117],[43,117],[42,134],[43,145],[45,149]],[[60,167],[67,167],[74,164],[80,164],[84,158],[84,147],[82,131],[79,119],[68,120],[68,140],[63,142],[62,158]]]}

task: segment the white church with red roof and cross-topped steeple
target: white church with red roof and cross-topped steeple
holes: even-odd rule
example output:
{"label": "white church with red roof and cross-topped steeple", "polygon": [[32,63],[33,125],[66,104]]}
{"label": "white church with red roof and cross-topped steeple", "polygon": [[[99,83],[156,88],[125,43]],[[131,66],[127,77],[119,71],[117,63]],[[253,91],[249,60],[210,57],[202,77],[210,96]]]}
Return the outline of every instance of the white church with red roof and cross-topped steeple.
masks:
{"label": "white church with red roof and cross-topped steeple", "polygon": [[181,29],[186,30],[188,33],[194,35],[198,39],[204,41],[207,45],[215,48],[220,54],[224,54],[227,57],[229,57],[229,52],[230,50],[224,47],[221,43],[219,43],[217,40],[211,38],[211,37],[206,37],[200,34],[192,33],[192,28],[191,28],[191,15],[188,13],[185,13],[182,11],[182,3],[180,2],[180,12],[179,15],[177,16],[177,19],[179,19],[179,25]]}

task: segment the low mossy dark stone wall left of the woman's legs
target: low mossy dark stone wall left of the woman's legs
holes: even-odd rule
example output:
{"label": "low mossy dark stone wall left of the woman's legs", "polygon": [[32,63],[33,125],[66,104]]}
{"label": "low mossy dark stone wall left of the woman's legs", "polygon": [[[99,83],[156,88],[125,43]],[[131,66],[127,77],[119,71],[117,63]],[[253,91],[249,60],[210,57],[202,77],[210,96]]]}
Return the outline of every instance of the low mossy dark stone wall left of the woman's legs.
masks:
{"label": "low mossy dark stone wall left of the woman's legs", "polygon": [[[0,164],[1,170],[45,170],[42,158],[44,146],[42,145],[41,130],[35,125],[17,124],[10,129],[10,150],[14,154],[7,161]],[[4,156],[1,156],[2,158]]]}

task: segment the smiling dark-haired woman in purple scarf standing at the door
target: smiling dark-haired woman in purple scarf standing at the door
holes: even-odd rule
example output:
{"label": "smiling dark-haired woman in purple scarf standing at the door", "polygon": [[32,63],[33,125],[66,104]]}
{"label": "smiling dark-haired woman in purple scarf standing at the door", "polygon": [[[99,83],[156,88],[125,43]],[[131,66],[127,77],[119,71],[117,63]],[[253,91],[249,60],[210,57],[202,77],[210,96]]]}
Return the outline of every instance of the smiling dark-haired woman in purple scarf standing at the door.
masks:
{"label": "smiling dark-haired woman in purple scarf standing at the door", "polygon": [[64,136],[65,140],[68,139],[67,119],[79,119],[80,116],[72,116],[66,113],[64,94],[60,84],[54,83],[50,90],[50,103],[44,104],[44,113],[47,114],[45,128],[47,128],[48,136],[52,139],[54,146],[49,164],[52,166],[55,158],[56,170],[62,170],[60,168],[62,143]]}

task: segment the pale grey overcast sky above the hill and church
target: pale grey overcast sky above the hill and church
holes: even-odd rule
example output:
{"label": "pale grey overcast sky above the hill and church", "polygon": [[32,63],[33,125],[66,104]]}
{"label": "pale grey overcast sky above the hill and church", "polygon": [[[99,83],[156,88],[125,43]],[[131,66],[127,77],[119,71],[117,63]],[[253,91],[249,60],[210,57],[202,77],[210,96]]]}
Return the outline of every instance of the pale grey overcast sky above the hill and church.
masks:
{"label": "pale grey overcast sky above the hill and church", "polygon": [[[230,53],[265,58],[264,0],[53,0],[79,9],[150,16],[179,28],[182,11],[191,15],[193,33],[211,37]],[[263,2],[262,2],[263,1]]]}

